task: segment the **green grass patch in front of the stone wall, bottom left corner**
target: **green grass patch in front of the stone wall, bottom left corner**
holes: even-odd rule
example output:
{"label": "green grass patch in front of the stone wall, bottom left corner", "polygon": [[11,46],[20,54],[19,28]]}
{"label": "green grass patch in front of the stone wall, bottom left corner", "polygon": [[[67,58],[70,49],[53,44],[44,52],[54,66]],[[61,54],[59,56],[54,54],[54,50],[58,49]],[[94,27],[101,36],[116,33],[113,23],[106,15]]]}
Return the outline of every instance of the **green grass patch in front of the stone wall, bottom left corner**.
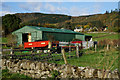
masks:
{"label": "green grass patch in front of the stone wall, bottom left corner", "polygon": [[4,69],[2,70],[2,79],[28,79],[32,80],[32,78],[25,76],[19,73],[10,73],[9,70]]}

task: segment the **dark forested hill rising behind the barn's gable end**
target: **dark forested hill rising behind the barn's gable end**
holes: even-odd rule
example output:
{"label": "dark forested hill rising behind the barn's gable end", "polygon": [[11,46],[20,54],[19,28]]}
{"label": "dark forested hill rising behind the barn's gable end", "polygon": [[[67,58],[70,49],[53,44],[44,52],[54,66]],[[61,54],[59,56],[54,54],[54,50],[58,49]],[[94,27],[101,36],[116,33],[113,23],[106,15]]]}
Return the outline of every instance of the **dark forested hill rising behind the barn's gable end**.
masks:
{"label": "dark forested hill rising behind the barn's gable end", "polygon": [[15,15],[22,20],[21,24],[24,23],[54,24],[71,19],[71,16],[62,15],[62,14],[17,13]]}

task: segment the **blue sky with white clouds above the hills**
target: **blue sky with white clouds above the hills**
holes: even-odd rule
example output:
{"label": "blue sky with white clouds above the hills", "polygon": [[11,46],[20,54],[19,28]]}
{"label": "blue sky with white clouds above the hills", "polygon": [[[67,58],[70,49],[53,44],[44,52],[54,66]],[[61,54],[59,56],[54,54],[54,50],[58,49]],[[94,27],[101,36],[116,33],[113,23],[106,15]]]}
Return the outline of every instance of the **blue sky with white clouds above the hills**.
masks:
{"label": "blue sky with white clouds above the hills", "polygon": [[[110,2],[109,2],[110,1]],[[15,13],[47,13],[83,16],[103,14],[118,8],[119,0],[2,0],[0,16]]]}

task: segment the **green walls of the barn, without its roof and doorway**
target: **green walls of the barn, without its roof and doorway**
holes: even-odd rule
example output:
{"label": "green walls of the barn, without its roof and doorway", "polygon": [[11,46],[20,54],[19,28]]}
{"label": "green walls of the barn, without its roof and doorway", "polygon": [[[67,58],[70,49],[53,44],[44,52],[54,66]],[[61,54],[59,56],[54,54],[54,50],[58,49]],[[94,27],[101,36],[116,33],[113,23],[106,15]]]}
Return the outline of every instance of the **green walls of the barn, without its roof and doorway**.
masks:
{"label": "green walls of the barn, without its roof and doorway", "polygon": [[72,41],[73,39],[80,39],[85,41],[85,35],[79,33],[64,33],[64,32],[48,32],[48,31],[40,31],[36,28],[31,28],[29,26],[25,26],[21,29],[14,31],[12,34],[18,36],[17,41],[18,44],[22,44],[22,34],[23,33],[31,33],[31,41],[36,40],[50,40],[48,36],[54,38],[56,41]]}

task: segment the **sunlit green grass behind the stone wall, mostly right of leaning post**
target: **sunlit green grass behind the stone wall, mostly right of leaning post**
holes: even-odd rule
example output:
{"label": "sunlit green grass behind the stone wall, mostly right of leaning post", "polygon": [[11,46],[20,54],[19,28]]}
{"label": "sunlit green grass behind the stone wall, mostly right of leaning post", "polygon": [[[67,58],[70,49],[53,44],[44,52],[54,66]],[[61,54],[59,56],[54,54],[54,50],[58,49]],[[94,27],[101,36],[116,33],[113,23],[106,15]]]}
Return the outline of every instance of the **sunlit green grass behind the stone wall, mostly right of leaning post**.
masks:
{"label": "sunlit green grass behind the stone wall, mostly right of leaning post", "polygon": [[[74,53],[75,54],[75,53]],[[92,50],[85,50],[85,53],[79,58],[67,59],[68,64],[82,67],[92,67],[97,69],[118,69],[118,58],[115,59],[119,54],[119,51],[100,51],[94,52]],[[51,63],[64,64],[64,60],[61,61],[50,61]]]}

